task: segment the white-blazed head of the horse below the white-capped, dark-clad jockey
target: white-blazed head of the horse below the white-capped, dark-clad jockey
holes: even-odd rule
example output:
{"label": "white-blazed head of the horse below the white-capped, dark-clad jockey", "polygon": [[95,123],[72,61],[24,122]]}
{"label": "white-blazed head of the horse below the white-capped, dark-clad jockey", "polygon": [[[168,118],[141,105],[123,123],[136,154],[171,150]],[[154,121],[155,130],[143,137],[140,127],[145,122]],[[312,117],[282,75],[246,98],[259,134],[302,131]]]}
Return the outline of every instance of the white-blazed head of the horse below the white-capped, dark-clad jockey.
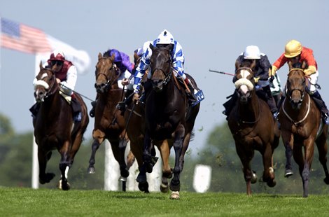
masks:
{"label": "white-blazed head of the horse below the white-capped, dark-clad jockey", "polygon": [[235,68],[237,69],[235,75],[237,78],[237,81],[235,81],[235,91],[237,91],[240,102],[247,103],[248,99],[251,98],[255,86],[255,81],[253,80],[255,59],[252,62],[245,60],[241,64],[236,62]]}

